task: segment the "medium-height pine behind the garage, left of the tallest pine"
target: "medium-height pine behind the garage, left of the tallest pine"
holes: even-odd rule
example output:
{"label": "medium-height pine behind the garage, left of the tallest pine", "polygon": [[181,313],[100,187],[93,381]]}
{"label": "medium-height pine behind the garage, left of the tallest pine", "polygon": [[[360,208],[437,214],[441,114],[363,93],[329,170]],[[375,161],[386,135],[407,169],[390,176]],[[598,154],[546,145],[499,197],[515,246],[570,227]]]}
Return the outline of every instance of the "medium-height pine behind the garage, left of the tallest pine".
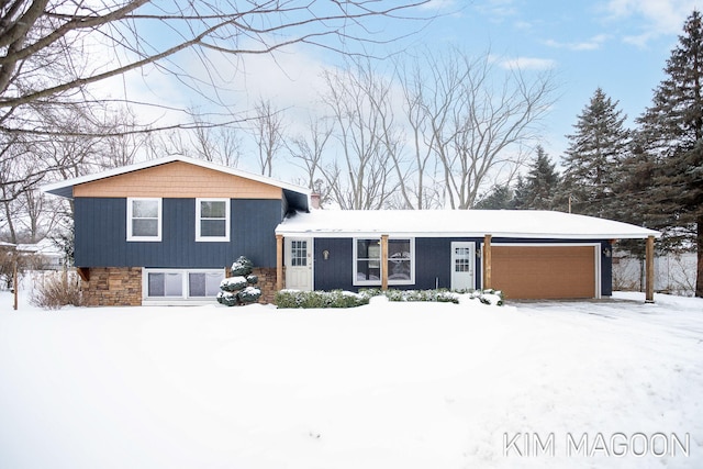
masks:
{"label": "medium-height pine behind the garage, left of the tallest pine", "polygon": [[573,201],[573,212],[611,216],[614,172],[627,155],[629,131],[626,116],[601,88],[573,125],[576,132],[563,157],[561,209]]}

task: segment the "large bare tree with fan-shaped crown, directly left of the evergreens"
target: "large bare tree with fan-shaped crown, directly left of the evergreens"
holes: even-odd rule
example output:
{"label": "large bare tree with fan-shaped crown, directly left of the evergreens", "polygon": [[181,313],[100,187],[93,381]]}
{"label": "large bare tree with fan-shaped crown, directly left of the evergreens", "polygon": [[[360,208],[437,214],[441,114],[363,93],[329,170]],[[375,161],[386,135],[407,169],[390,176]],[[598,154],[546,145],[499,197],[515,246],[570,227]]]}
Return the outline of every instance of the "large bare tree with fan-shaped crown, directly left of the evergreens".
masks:
{"label": "large bare tree with fan-shaped crown, directly left of the evergreens", "polygon": [[429,79],[415,75],[412,97],[424,109],[445,199],[451,209],[470,209],[489,178],[504,171],[510,179],[525,161],[523,145],[537,136],[554,83],[549,74],[531,80],[516,68],[499,72],[490,54],[428,54],[425,69]]}

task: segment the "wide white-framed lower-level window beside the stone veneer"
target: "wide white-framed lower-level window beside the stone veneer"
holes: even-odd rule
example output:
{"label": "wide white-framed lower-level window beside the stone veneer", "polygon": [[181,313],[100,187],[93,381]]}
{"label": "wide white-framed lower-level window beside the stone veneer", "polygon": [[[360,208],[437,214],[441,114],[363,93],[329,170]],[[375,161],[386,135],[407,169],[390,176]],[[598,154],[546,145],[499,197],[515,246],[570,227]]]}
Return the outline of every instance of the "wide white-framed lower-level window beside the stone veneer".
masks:
{"label": "wide white-framed lower-level window beside the stone veneer", "polygon": [[224,279],[224,269],[144,269],[145,300],[214,299]]}

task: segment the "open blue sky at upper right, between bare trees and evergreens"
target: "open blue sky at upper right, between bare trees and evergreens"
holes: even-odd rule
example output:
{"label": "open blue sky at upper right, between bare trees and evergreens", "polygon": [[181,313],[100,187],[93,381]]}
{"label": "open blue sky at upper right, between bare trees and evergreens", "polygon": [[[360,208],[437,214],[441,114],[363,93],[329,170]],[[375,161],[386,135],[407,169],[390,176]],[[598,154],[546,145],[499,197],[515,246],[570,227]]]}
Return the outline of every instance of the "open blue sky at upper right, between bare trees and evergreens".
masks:
{"label": "open blue sky at upper right, between bare trees and evergreens", "polygon": [[454,44],[523,69],[551,69],[558,100],[545,121],[544,146],[557,159],[577,116],[596,88],[628,116],[651,103],[652,90],[678,42],[683,22],[703,0],[476,0],[438,1],[445,11],[423,32],[436,47]]}

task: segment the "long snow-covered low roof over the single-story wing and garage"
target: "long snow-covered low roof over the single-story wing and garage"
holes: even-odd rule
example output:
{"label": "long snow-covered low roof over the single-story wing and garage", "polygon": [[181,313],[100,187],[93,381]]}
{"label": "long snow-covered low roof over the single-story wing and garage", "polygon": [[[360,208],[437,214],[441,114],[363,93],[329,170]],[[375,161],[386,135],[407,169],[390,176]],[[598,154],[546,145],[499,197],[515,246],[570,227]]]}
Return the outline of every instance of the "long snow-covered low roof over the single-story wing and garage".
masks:
{"label": "long snow-covered low roof over the single-story wing and garage", "polygon": [[654,230],[612,220],[538,210],[313,210],[287,217],[283,236],[417,236],[641,239]]}

